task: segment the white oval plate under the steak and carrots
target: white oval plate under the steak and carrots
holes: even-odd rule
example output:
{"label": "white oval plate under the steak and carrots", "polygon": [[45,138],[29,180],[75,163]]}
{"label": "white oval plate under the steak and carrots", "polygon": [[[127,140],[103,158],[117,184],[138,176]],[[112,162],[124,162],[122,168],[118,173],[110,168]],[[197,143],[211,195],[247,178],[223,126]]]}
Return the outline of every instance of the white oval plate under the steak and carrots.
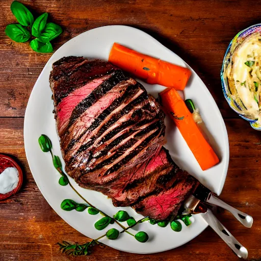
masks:
{"label": "white oval plate under the steak and carrots", "polygon": [[[84,202],[69,186],[63,187],[58,184],[60,174],[54,168],[50,154],[41,151],[38,138],[41,134],[46,134],[53,142],[54,154],[62,158],[56,133],[55,119],[52,113],[54,106],[53,100],[51,100],[52,93],[48,81],[51,65],[58,59],[71,55],[108,60],[109,52],[114,42],[133,48],[143,54],[189,67],[182,59],[172,53],[172,51],[138,29],[122,25],[96,28],[74,37],[61,46],[49,59],[33,88],[24,118],[25,152],[38,188],[58,215],[73,228],[92,239],[98,238],[104,231],[107,231],[106,229],[98,231],[94,228],[95,221],[100,218],[99,214],[91,216],[86,211],[76,212],[73,210],[66,212],[60,208],[61,202],[66,198],[73,199],[76,202]],[[160,91],[165,89],[165,87],[160,85],[148,85],[142,81],[140,82],[146,90],[155,97],[158,96]],[[173,160],[179,167],[187,170],[205,186],[217,194],[220,194],[224,185],[229,160],[228,137],[224,121],[210,92],[193,70],[191,80],[185,88],[185,97],[193,99],[200,108],[207,129],[215,140],[215,142],[211,141],[211,143],[218,153],[221,162],[211,169],[202,171],[185,140],[168,118],[166,118],[165,122],[167,126],[166,138],[168,140],[166,147],[170,150]],[[132,210],[131,207],[114,207],[111,200],[106,196],[95,191],[80,188],[71,178],[70,180],[77,191],[108,215],[113,216],[118,210],[124,209],[135,217],[136,220],[142,217]],[[126,225],[126,222],[123,224]],[[110,225],[109,227],[119,228],[117,224]],[[121,234],[117,240],[103,238],[101,242],[126,252],[161,252],[181,246],[192,240],[207,227],[207,224],[200,215],[195,215],[192,225],[186,227],[182,224],[182,227],[181,232],[175,232],[170,226],[162,228],[145,222],[131,229],[134,233],[135,230],[143,230],[148,233],[149,241],[144,244],[136,241],[127,233]],[[66,240],[66,233],[61,240]]]}

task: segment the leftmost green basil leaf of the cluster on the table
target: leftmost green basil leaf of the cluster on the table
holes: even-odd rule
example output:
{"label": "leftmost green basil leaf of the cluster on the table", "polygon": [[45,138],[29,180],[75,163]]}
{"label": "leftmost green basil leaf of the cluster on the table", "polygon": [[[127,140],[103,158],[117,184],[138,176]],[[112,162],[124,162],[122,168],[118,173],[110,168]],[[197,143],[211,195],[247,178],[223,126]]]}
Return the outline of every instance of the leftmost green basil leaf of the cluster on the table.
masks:
{"label": "leftmost green basil leaf of the cluster on the table", "polygon": [[30,32],[19,23],[8,24],[5,32],[8,37],[18,43],[26,42],[31,37]]}

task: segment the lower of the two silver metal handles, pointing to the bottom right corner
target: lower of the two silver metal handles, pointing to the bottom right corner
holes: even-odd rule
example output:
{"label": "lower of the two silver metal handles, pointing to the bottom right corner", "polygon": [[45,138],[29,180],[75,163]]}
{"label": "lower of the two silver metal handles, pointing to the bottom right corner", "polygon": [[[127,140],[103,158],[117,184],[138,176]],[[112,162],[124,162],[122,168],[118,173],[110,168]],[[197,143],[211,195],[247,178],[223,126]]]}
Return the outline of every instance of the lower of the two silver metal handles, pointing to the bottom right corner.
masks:
{"label": "lower of the two silver metal handles, pointing to the bottom right corner", "polygon": [[232,234],[219,222],[219,220],[214,216],[212,211],[208,210],[201,214],[203,219],[208,225],[224,240],[224,242],[232,249],[232,251],[240,258],[247,259],[248,252],[247,249],[242,246]]}

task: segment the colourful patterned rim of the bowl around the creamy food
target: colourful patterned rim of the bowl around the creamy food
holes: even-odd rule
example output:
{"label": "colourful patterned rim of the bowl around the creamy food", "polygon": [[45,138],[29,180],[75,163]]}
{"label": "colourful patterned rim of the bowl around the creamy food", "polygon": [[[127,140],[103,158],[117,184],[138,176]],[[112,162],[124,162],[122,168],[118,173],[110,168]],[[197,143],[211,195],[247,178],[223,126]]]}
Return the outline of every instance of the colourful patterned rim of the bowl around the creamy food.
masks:
{"label": "colourful patterned rim of the bowl around the creamy food", "polygon": [[222,89],[224,96],[229,104],[229,106],[239,114],[243,119],[249,121],[250,125],[254,128],[257,129],[258,131],[261,131],[261,125],[257,122],[256,119],[251,119],[247,117],[244,113],[245,109],[240,105],[239,102],[237,102],[235,99],[233,99],[231,95],[231,91],[229,89],[229,85],[227,82],[227,77],[225,76],[225,70],[230,63],[231,56],[233,54],[233,51],[237,48],[239,44],[242,43],[242,41],[250,36],[253,33],[259,32],[261,34],[261,23],[257,23],[252,25],[251,27],[239,32],[229,43],[228,48],[225,53],[225,57],[223,60],[223,65],[221,69],[221,83],[222,83]]}

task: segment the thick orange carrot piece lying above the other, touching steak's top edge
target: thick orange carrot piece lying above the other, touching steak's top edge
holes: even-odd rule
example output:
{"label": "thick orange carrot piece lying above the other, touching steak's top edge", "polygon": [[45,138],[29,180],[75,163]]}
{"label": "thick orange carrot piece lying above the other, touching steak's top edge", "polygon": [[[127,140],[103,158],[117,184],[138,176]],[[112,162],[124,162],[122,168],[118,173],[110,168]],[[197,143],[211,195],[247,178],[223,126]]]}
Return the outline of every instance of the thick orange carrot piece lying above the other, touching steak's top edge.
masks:
{"label": "thick orange carrot piece lying above the other, touching steak's top edge", "polygon": [[140,54],[118,43],[113,44],[109,62],[149,84],[160,84],[176,90],[184,90],[191,75],[188,68]]}

